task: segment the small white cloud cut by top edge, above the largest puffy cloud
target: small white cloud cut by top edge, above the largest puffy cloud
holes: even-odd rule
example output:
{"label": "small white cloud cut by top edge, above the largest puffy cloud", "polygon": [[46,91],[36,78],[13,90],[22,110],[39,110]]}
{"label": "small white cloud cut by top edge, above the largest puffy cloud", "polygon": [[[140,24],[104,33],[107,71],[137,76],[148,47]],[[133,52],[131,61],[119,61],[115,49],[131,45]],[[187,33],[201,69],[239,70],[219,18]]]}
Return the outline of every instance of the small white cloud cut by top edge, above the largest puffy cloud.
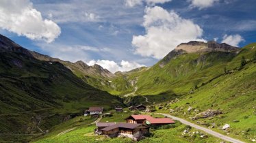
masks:
{"label": "small white cloud cut by top edge, above the largest puffy cloud", "polygon": [[155,5],[156,3],[166,3],[172,0],[125,0],[125,5],[134,7],[136,5],[142,5],[145,2],[147,5]]}

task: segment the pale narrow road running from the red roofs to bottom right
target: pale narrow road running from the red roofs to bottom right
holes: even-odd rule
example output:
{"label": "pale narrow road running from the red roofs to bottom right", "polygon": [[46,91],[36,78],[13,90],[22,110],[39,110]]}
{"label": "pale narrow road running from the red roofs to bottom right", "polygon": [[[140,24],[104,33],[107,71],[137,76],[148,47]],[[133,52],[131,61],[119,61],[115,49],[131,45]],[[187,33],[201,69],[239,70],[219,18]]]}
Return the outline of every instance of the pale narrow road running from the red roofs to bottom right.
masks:
{"label": "pale narrow road running from the red roofs to bottom right", "polygon": [[220,133],[218,133],[218,132],[216,132],[216,131],[212,131],[211,129],[207,129],[207,128],[205,128],[205,127],[201,127],[201,126],[199,126],[199,125],[195,125],[194,123],[190,123],[190,122],[188,122],[188,121],[185,121],[185,120],[182,119],[182,118],[178,118],[178,117],[172,116],[172,115],[170,115],[170,114],[163,114],[163,113],[159,113],[159,114],[162,114],[162,115],[168,116],[169,118],[172,118],[172,119],[174,119],[174,120],[180,121],[181,123],[183,123],[183,124],[185,124],[185,125],[190,125],[191,127],[194,127],[194,128],[196,128],[196,129],[200,129],[200,130],[202,130],[202,131],[205,131],[206,133],[209,133],[210,135],[215,136],[216,138],[220,138],[220,139],[222,139],[222,140],[226,140],[227,142],[244,143],[244,142],[242,142],[242,141],[240,141],[240,140],[236,140],[236,139],[231,138],[231,137],[229,137],[229,136],[222,135],[222,134],[220,134]]}

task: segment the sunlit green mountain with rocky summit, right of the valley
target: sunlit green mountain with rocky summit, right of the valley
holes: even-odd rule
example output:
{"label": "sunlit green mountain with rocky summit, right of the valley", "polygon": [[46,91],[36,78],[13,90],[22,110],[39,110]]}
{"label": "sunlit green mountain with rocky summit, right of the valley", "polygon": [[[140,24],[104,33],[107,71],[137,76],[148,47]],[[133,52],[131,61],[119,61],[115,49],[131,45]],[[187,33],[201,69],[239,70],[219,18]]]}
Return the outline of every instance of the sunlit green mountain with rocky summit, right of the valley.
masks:
{"label": "sunlit green mountain with rocky summit, right of the valley", "polygon": [[[164,107],[157,112],[251,142],[256,133],[256,43],[243,48],[211,43],[181,44],[149,69],[126,75],[127,82],[136,84],[123,97],[125,104]],[[225,124],[231,127],[223,131]]]}

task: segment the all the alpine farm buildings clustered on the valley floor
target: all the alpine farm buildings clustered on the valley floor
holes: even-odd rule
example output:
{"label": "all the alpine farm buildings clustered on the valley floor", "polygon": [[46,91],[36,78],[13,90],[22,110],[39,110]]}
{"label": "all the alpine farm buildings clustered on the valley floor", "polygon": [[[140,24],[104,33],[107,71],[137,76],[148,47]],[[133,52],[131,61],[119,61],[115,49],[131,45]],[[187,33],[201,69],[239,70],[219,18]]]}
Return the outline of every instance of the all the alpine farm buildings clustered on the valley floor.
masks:
{"label": "all the alpine farm buildings clustered on the valley floor", "polygon": [[[123,112],[123,108],[115,108],[116,112]],[[146,110],[146,106],[131,106],[129,110]],[[103,107],[90,107],[84,116],[98,117],[103,114]],[[110,113],[108,113],[110,114]],[[108,115],[103,114],[103,116]],[[154,118],[149,115],[133,114],[125,118],[125,123],[96,123],[95,133],[109,137],[126,136],[133,140],[140,140],[144,135],[150,133],[150,127],[173,124],[171,118]]]}

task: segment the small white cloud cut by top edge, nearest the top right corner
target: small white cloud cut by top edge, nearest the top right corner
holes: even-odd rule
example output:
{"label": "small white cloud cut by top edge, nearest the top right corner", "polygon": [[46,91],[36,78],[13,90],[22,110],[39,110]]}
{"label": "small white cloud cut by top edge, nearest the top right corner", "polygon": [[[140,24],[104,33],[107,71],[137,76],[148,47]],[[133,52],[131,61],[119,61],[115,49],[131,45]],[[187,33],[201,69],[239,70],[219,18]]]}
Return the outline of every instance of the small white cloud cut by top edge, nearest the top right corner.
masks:
{"label": "small white cloud cut by top edge, nearest the top right corner", "polygon": [[191,7],[199,7],[199,10],[211,7],[214,3],[220,0],[188,0],[191,2]]}

